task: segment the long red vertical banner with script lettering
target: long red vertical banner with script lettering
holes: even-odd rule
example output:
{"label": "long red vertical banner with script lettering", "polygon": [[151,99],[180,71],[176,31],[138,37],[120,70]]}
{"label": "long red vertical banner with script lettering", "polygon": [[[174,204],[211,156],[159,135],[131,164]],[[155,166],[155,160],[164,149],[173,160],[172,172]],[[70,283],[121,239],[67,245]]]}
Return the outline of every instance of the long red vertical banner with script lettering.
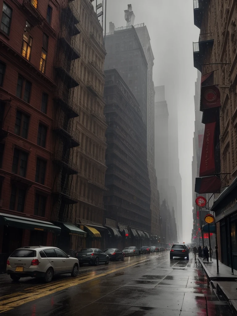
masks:
{"label": "long red vertical banner with script lettering", "polygon": [[216,122],[205,124],[199,177],[208,176],[215,172],[215,129]]}

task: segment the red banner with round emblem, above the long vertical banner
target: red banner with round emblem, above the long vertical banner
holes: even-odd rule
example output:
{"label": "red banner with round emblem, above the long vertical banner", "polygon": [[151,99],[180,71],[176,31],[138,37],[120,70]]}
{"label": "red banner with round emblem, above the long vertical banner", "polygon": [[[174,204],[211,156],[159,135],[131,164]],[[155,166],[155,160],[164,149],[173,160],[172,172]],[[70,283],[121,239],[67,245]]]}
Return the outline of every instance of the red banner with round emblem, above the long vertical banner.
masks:
{"label": "red banner with round emblem, above the long vertical banner", "polygon": [[221,94],[218,87],[201,87],[201,110],[218,106],[221,106]]}

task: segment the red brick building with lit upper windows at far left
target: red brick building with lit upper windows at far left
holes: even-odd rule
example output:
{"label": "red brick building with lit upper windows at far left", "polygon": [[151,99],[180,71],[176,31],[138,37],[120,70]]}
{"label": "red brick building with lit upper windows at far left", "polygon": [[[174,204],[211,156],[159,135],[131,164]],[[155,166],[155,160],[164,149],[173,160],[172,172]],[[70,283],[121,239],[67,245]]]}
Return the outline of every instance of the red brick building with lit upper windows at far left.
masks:
{"label": "red brick building with lit upper windows at far left", "polygon": [[61,11],[53,0],[0,2],[0,253],[51,245],[60,233],[46,221]]}

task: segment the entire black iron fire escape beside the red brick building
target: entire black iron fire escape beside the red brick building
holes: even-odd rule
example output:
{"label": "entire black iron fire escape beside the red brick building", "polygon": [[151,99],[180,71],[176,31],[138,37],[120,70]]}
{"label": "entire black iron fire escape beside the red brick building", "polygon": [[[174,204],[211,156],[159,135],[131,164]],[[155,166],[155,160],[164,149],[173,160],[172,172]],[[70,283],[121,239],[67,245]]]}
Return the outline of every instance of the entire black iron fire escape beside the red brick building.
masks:
{"label": "entire black iron fire escape beside the red brick building", "polygon": [[79,14],[70,0],[61,13],[61,30],[58,36],[55,71],[57,90],[54,97],[54,220],[72,221],[73,205],[78,202],[73,175],[78,173],[78,166],[73,162],[73,149],[80,145],[79,134],[74,126],[74,118],[79,116],[78,105],[74,101],[74,88],[80,79],[76,75],[74,61],[80,58],[76,45],[76,35],[80,33],[77,24]]}

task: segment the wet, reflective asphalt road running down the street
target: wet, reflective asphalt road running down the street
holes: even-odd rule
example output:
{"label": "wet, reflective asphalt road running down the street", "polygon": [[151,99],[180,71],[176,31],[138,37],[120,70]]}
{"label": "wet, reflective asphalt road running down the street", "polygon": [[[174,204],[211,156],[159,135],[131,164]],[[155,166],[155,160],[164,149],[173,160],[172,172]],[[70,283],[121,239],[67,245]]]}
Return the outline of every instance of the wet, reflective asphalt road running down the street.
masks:
{"label": "wet, reflective asphalt road running down the street", "polygon": [[0,314],[9,316],[230,316],[194,259],[169,252],[125,257],[84,266],[76,278],[45,284],[32,278],[13,283],[0,275]]}

